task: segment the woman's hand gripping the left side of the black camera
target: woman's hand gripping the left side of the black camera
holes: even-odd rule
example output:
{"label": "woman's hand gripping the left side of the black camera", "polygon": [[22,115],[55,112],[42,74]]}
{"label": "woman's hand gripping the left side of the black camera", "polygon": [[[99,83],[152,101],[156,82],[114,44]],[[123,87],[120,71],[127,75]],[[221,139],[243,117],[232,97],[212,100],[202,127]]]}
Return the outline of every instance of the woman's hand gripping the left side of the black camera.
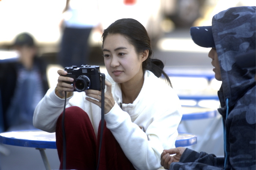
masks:
{"label": "woman's hand gripping the left side of the black camera", "polygon": [[70,96],[72,94],[72,91],[74,91],[74,87],[71,84],[65,83],[65,82],[74,82],[73,78],[63,76],[63,75],[67,75],[67,73],[68,72],[66,72],[64,70],[58,70],[58,74],[60,76],[58,78],[58,83],[57,83],[57,87],[55,90],[55,94],[59,98],[65,97],[64,91],[67,91],[67,96]]}

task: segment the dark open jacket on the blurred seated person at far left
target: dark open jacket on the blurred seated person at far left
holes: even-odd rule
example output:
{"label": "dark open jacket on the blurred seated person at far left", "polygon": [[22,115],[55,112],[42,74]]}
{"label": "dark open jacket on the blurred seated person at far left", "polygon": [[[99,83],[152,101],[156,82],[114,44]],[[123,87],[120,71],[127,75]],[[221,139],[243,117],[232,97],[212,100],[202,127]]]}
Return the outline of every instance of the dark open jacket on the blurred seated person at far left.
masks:
{"label": "dark open jacket on the blurred seated person at far left", "polygon": [[[39,72],[42,79],[42,86],[44,89],[44,94],[49,89],[48,80],[46,76],[46,66],[45,60],[40,57],[35,57],[34,65],[39,68]],[[18,67],[20,64],[17,62],[11,63],[1,63],[0,64],[0,98],[3,111],[3,120],[6,122],[6,112],[10,106],[11,99],[14,96],[14,91],[17,83]],[[4,124],[4,131],[8,129],[7,125]]]}

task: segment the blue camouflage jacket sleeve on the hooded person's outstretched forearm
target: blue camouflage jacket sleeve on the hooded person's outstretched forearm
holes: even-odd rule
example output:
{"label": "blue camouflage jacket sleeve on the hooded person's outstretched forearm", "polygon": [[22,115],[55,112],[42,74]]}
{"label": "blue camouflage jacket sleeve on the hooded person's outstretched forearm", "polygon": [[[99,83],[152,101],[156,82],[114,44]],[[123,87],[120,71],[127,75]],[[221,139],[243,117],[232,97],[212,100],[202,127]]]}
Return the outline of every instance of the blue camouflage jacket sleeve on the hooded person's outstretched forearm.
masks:
{"label": "blue camouflage jacket sleeve on the hooded person's outstretched forearm", "polygon": [[170,170],[223,170],[224,158],[217,158],[214,154],[196,152],[189,148],[183,152],[180,162],[170,165]]}

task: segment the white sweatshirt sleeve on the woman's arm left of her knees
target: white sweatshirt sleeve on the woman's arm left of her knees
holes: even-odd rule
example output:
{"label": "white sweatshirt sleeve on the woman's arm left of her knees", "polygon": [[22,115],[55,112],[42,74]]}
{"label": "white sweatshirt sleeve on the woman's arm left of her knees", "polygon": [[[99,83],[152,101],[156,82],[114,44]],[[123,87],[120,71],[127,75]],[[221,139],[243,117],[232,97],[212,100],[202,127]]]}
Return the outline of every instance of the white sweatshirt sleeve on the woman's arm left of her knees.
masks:
{"label": "white sweatshirt sleeve on the woman's arm left of her knees", "polygon": [[[66,103],[69,99],[67,98]],[[46,132],[55,132],[56,122],[64,109],[65,99],[57,97],[55,88],[50,88],[34,110],[33,125]],[[66,107],[70,105],[67,104]]]}

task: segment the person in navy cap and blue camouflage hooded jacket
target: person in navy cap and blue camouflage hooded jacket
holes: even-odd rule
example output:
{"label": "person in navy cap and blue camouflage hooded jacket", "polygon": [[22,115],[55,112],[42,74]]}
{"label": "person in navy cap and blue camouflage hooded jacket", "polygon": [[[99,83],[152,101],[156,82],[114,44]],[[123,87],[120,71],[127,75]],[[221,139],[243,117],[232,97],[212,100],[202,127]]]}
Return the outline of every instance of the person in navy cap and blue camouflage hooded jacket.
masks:
{"label": "person in navy cap and blue camouflage hooded jacket", "polygon": [[[191,27],[195,44],[212,48],[208,56],[215,78],[222,81],[218,111],[223,118],[225,156],[183,147],[164,150],[161,165],[165,169],[256,169],[255,20],[255,7],[234,7],[216,14],[212,26]],[[240,63],[241,56],[248,64]]]}

